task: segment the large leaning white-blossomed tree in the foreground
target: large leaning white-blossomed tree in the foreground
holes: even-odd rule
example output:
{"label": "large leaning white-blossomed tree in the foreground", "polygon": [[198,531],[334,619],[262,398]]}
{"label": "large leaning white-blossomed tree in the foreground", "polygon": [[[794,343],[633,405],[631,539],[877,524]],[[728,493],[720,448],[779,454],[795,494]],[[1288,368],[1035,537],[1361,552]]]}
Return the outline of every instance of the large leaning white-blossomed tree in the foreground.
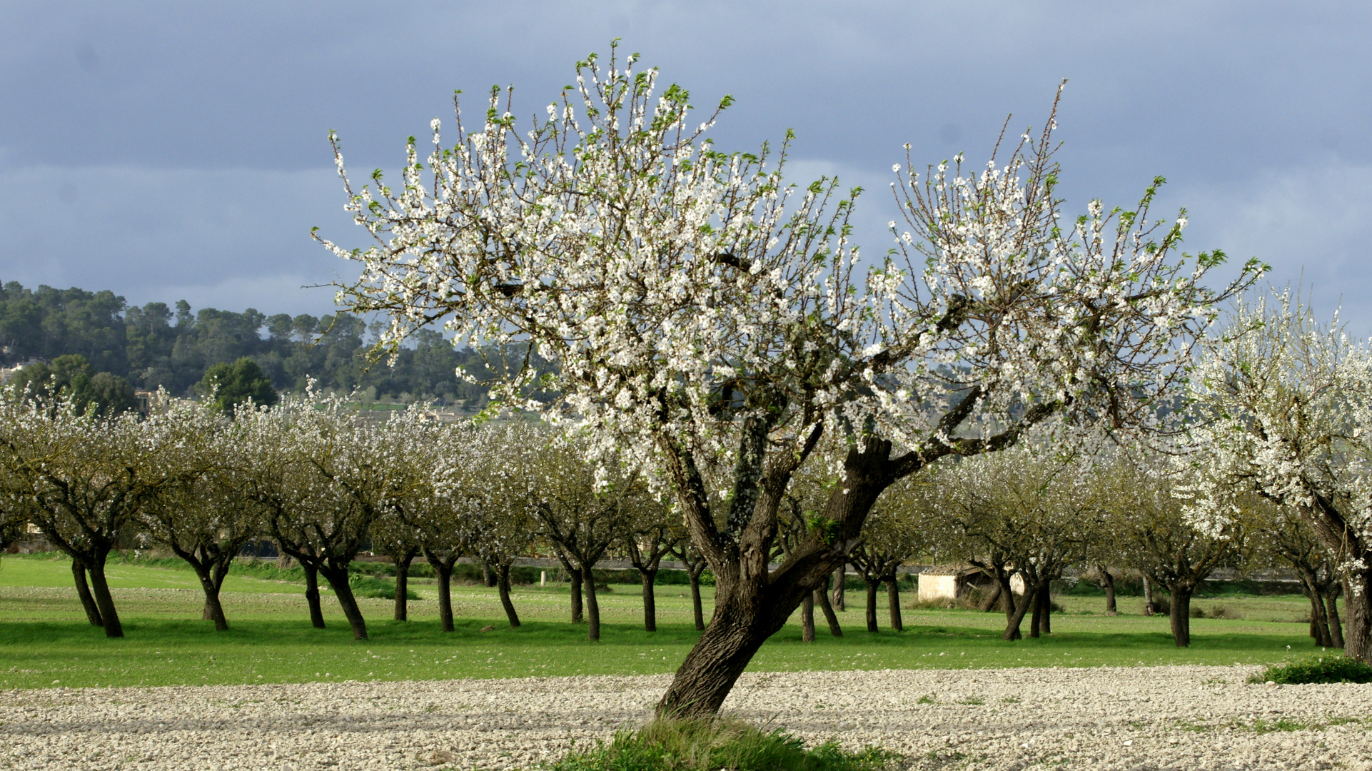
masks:
{"label": "large leaning white-blossomed tree in the foreground", "polygon": [[[556,370],[514,362],[493,395],[584,423],[591,455],[617,447],[672,490],[716,601],[659,708],[708,715],[847,560],[882,490],[1050,423],[1148,429],[1235,287],[1203,285],[1222,255],[1180,254],[1184,218],[1148,221],[1152,188],[1135,210],[1059,220],[1051,119],[978,169],[897,166],[908,233],[864,263],[837,181],[785,182],[789,134],[719,152],[719,111],[698,122],[685,89],[634,63],[580,62],[527,130],[499,91],[479,126],[458,112],[451,144],[435,119],[397,188],[380,173],[354,187],[339,151],[376,243],[324,243],[361,265],[339,296],[390,314],[387,346],[443,322],[460,343],[536,353]],[[833,525],[772,569],[781,497],[816,447],[844,479]]]}

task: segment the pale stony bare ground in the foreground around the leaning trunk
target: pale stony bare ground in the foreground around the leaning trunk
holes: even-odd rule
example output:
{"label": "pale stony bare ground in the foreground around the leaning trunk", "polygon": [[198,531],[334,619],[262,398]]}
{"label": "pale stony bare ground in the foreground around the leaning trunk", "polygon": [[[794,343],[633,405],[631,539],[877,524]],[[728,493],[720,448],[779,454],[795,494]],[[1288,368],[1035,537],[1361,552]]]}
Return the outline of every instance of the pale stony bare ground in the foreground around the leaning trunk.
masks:
{"label": "pale stony bare ground in the foreground around the leaning trunk", "polygon": [[[724,708],[908,768],[1372,770],[1372,685],[1253,667],[749,674]],[[521,768],[648,719],[657,676],[0,691],[8,768]]]}

